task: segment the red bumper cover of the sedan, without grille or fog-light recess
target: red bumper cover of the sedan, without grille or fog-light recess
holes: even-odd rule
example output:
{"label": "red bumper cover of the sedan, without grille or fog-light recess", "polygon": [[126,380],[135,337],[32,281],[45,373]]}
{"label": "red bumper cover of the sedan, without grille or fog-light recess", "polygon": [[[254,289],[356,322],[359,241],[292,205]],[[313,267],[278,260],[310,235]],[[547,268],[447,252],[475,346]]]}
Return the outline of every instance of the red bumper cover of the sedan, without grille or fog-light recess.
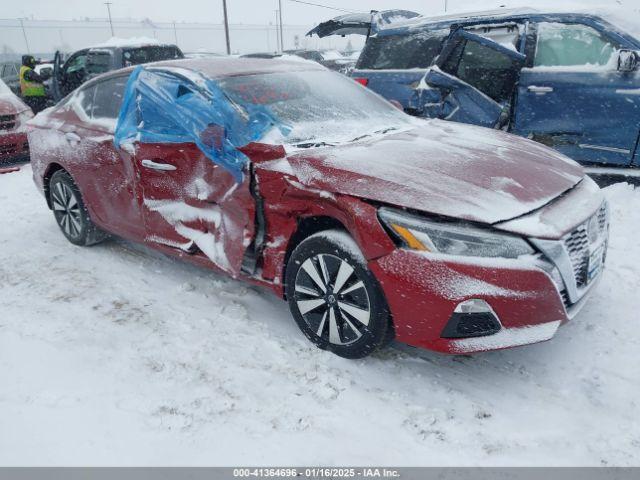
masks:
{"label": "red bumper cover of the sedan, without grille or fog-light recess", "polygon": [[[415,347],[458,354],[527,345],[549,340],[568,319],[551,277],[528,262],[398,249],[369,268],[384,290],[396,339]],[[458,305],[472,299],[490,305],[500,330],[443,338]]]}

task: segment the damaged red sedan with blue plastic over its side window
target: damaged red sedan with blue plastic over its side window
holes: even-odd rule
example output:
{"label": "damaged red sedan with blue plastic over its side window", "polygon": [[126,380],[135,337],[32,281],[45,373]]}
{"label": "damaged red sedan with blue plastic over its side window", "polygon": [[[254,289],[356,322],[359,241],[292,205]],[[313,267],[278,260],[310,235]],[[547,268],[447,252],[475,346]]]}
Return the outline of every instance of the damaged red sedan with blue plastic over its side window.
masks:
{"label": "damaged red sedan with blue plastic over its side window", "polygon": [[113,234],[265,286],[347,358],[393,338],[446,353],[548,340],[600,277],[607,205],[551,149],[412,119],[308,62],[135,72],[31,122],[35,182],[76,245]]}

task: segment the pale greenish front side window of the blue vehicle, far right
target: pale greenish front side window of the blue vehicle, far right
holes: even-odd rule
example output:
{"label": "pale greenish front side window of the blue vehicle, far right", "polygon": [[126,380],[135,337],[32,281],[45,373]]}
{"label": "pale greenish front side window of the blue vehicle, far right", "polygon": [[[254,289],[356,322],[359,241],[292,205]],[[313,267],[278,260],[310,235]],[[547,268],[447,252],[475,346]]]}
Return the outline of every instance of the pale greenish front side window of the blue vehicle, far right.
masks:
{"label": "pale greenish front side window of the blue vehicle, far right", "polygon": [[606,66],[619,45],[587,25],[540,23],[534,66]]}

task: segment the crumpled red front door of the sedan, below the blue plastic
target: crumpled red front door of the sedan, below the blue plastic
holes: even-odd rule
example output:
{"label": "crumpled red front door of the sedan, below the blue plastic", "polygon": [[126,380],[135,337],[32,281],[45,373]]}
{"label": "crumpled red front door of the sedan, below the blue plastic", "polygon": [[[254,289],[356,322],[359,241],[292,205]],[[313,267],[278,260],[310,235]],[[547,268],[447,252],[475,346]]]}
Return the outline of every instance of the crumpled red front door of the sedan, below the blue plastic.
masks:
{"label": "crumpled red front door of the sedan, below the blue plastic", "polygon": [[255,200],[193,143],[135,143],[146,241],[207,257],[237,276],[254,235]]}

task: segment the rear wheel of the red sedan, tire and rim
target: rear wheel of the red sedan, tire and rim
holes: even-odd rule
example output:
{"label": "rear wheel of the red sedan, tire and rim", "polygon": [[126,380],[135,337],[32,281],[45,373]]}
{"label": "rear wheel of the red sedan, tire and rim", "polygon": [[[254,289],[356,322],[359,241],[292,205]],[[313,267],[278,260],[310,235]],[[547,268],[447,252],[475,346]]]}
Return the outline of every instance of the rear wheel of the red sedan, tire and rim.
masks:
{"label": "rear wheel of the red sedan, tire and rim", "polygon": [[51,177],[49,200],[60,230],[74,245],[93,245],[107,237],[91,221],[80,190],[66,171],[58,170]]}

